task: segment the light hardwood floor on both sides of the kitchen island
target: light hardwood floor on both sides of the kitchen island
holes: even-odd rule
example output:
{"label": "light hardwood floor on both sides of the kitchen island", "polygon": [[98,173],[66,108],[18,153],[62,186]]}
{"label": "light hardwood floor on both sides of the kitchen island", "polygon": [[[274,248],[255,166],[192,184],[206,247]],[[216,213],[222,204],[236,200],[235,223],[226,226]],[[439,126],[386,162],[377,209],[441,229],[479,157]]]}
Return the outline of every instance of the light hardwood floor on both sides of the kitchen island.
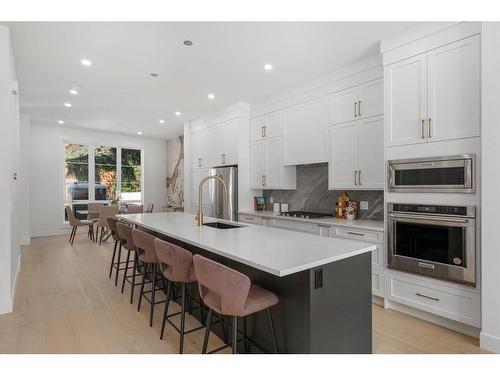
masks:
{"label": "light hardwood floor on both sides of the kitchen island", "polygon": [[[163,305],[149,328],[149,304],[137,312],[108,279],[112,244],[78,234],[34,238],[22,249],[14,312],[0,315],[0,353],[177,353],[177,332],[159,339]],[[178,309],[176,304],[173,308]],[[197,324],[187,318],[187,327]],[[484,353],[478,340],[373,306],[374,353]],[[187,335],[185,353],[199,353],[203,330]],[[211,335],[209,350],[222,342]],[[229,352],[227,350],[226,352]]]}

